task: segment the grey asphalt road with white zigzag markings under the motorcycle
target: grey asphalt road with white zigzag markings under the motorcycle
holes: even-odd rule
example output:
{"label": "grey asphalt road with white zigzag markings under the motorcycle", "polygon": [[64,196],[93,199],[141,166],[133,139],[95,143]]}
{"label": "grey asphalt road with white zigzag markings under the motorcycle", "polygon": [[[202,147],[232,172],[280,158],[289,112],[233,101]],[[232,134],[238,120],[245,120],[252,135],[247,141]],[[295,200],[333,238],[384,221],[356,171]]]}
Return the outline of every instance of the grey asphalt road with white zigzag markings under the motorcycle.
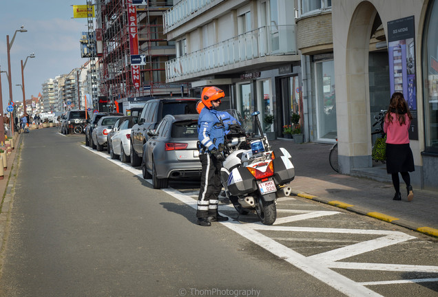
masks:
{"label": "grey asphalt road with white zigzag markings under the motorcycle", "polygon": [[196,182],[154,190],[83,142],[23,135],[1,296],[438,294],[427,236],[297,197],[279,199],[277,225],[249,215],[203,228]]}

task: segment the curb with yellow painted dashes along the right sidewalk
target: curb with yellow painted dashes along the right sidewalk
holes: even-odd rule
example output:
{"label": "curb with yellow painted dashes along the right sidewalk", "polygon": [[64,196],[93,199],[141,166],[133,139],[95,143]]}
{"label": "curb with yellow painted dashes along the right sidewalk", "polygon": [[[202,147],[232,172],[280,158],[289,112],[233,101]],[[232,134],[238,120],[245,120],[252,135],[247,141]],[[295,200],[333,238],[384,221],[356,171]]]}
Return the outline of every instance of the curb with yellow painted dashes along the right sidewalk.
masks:
{"label": "curb with yellow painted dashes along the right sidewalk", "polygon": [[310,200],[313,200],[313,201],[317,201],[317,202],[320,202],[320,203],[325,203],[325,204],[328,204],[328,205],[331,205],[331,206],[335,206],[337,208],[342,208],[344,210],[355,212],[357,214],[362,214],[362,215],[365,215],[367,217],[372,217],[374,219],[379,219],[381,221],[386,221],[388,223],[393,223],[393,224],[399,225],[399,226],[401,226],[403,228],[407,228],[407,229],[410,229],[410,230],[413,230],[413,231],[417,231],[417,232],[426,234],[428,236],[438,237],[438,229],[430,228],[430,227],[427,227],[427,226],[419,226],[419,225],[416,225],[415,223],[412,223],[410,221],[406,221],[404,219],[399,219],[399,218],[396,218],[396,217],[392,217],[392,216],[390,216],[388,214],[383,214],[382,212],[373,212],[373,211],[367,210],[365,208],[361,208],[359,206],[354,206],[354,205],[351,205],[351,204],[348,204],[348,203],[344,203],[342,201],[336,201],[336,200],[328,201],[328,199],[324,199],[322,197],[317,197],[317,196],[309,195],[306,192],[298,192],[298,191],[291,190],[291,194],[293,194],[295,196],[298,196],[298,197],[303,197],[303,198],[310,199]]}

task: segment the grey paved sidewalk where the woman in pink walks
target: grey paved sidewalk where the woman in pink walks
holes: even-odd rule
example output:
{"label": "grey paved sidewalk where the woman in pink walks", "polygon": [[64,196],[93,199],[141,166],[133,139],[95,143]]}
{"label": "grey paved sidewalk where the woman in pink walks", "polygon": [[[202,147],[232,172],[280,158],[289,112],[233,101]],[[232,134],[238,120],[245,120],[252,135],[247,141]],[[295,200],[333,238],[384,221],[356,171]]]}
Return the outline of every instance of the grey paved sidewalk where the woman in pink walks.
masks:
{"label": "grey paved sidewalk where the woman in pink walks", "polygon": [[395,191],[384,166],[377,168],[383,181],[342,175],[328,162],[332,144],[295,144],[293,140],[282,138],[271,140],[269,144],[284,147],[292,155],[295,179],[289,186],[293,195],[438,236],[438,192],[414,187],[414,199],[408,202],[400,177],[401,201],[393,201]]}

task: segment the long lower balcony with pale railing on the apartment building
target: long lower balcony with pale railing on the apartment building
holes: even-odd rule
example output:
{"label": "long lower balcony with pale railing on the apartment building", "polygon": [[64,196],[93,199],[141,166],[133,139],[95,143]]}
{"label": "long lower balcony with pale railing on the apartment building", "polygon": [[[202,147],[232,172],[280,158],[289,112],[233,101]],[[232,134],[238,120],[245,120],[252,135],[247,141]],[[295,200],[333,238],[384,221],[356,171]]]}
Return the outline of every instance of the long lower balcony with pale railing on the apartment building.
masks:
{"label": "long lower balcony with pale railing on the apartment building", "polygon": [[168,83],[297,61],[295,25],[258,28],[166,62]]}

